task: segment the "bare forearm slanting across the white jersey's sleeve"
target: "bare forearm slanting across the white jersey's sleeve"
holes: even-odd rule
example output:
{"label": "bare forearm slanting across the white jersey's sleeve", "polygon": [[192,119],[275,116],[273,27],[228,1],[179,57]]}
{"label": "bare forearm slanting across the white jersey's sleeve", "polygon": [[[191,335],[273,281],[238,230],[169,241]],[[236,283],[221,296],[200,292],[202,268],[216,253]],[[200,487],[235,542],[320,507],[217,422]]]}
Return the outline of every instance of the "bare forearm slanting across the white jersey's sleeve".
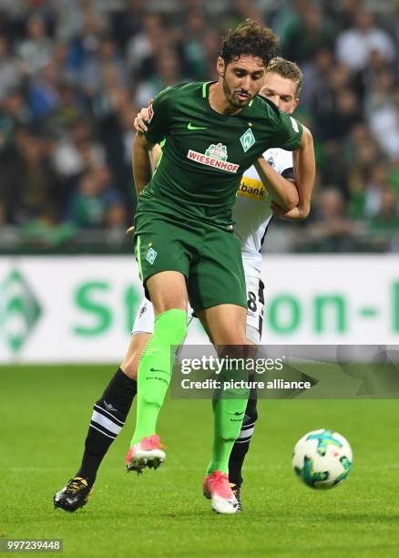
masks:
{"label": "bare forearm slanting across the white jersey's sleeve", "polygon": [[282,210],[289,212],[298,205],[298,191],[293,181],[285,179],[281,174],[274,171],[263,157],[255,162],[255,169],[263,185],[270,192],[273,202]]}

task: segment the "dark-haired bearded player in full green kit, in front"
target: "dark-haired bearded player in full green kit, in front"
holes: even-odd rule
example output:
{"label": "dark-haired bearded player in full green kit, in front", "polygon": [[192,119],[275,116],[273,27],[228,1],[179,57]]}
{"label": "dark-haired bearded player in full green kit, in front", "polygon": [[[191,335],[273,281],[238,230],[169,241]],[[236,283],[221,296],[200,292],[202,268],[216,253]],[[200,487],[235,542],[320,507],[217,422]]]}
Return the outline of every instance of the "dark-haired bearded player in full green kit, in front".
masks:
{"label": "dark-haired bearded player in full green kit, in front", "polygon": [[[165,460],[157,418],[169,387],[170,347],[186,335],[188,300],[223,356],[227,346],[235,347],[229,356],[248,354],[245,281],[231,219],[242,172],[268,148],[281,147],[298,150],[298,169],[313,177],[310,132],[256,97],[277,43],[270,29],[252,21],[230,32],[217,63],[218,82],[162,91],[149,109],[148,131],[135,141],[136,254],[156,318],[138,366],[128,470],[157,468]],[[148,152],[162,140],[162,159],[151,178]],[[227,371],[223,379],[229,379]],[[227,471],[247,398],[241,389],[213,401],[214,441],[204,492],[221,513],[237,511]]]}

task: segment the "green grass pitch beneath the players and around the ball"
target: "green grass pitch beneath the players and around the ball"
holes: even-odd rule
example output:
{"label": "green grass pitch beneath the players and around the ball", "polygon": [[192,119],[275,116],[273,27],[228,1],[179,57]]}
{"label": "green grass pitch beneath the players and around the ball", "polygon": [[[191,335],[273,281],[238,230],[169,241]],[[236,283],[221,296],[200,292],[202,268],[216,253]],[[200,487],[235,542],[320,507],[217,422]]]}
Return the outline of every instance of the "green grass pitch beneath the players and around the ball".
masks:
{"label": "green grass pitch beneath the players and around the ball", "polygon": [[[394,400],[261,401],[246,462],[244,511],[220,516],[201,496],[210,402],[168,399],[159,433],[168,460],[140,478],[123,458],[134,415],[73,514],[53,510],[76,472],[91,406],[112,367],[1,367],[0,535],[61,538],[64,555],[397,556],[399,406]],[[312,491],[291,468],[306,431],[332,428],[353,446],[348,480]]]}

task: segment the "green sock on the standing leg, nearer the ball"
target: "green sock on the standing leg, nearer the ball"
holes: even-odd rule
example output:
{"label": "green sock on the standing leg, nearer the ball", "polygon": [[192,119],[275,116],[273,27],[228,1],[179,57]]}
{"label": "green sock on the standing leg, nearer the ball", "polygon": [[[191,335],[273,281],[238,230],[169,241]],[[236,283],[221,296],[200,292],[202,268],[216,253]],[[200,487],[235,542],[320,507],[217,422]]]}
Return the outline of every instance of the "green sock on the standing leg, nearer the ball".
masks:
{"label": "green sock on the standing leg, nearer the ball", "polygon": [[[220,381],[223,377],[220,375]],[[242,376],[241,376],[242,377]],[[232,377],[230,379],[237,379]],[[234,442],[240,436],[250,392],[245,388],[227,389],[223,398],[212,400],[213,407],[213,445],[207,475],[215,470],[229,474],[229,459]]]}

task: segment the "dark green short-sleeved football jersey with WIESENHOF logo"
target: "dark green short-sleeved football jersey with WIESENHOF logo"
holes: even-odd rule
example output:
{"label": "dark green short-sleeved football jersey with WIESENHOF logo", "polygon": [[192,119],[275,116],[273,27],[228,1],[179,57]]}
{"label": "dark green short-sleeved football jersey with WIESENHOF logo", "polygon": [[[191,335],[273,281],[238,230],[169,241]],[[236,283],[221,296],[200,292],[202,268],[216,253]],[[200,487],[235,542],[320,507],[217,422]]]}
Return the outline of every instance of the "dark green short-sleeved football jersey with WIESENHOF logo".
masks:
{"label": "dark green short-sleeved football jersey with WIESENHOF logo", "polygon": [[164,89],[148,108],[150,143],[164,141],[137,215],[157,212],[226,228],[243,171],[271,148],[296,150],[302,125],[256,97],[236,115],[211,109],[212,82]]}

